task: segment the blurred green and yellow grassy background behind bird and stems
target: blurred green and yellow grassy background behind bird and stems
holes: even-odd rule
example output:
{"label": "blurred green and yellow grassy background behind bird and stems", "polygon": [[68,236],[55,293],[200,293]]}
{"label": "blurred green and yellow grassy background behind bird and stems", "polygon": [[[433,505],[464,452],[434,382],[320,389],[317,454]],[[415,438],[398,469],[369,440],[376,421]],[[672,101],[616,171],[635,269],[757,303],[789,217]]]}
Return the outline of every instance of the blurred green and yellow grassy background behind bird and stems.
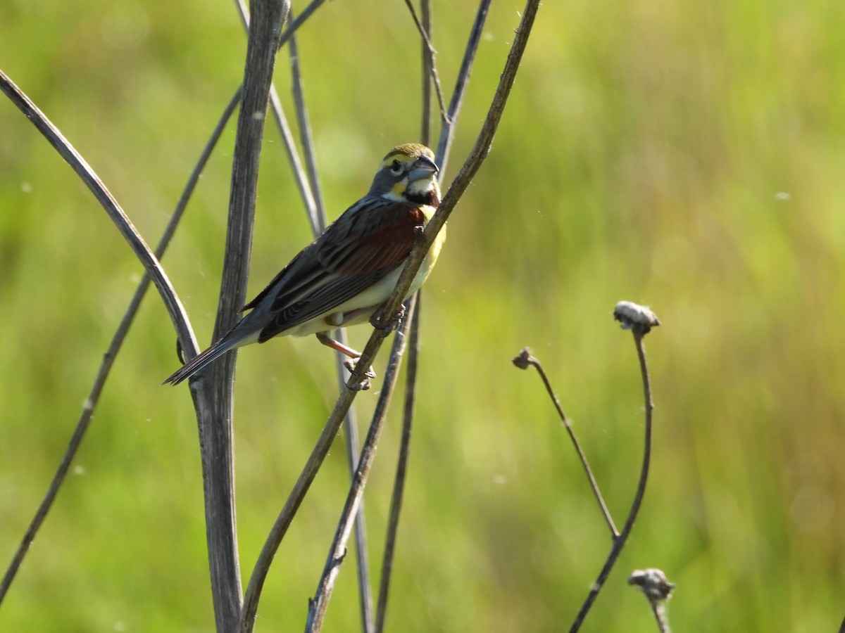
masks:
{"label": "blurred green and yellow grassy background behind bird and stems", "polygon": [[[444,89],[474,8],[434,3]],[[302,8],[302,6],[300,6]],[[521,6],[493,3],[446,181],[472,147]],[[625,583],[678,583],[675,630],[836,630],[845,615],[845,5],[547,2],[488,161],[423,297],[420,398],[388,629],[568,628],[610,546],[531,346],[617,522],[641,459],[641,383],[617,300],[662,319],[646,346],[654,456],[641,517],[584,630],[652,631]],[[239,83],[233,6],[0,4],[0,68],[74,143],[147,241],[166,224]],[[334,217],[378,160],[419,136],[419,44],[403,3],[334,2],[299,39]],[[288,56],[278,87],[290,104]],[[167,273],[207,343],[232,129]],[[0,559],[63,454],[140,274],[90,193],[0,100]],[[267,134],[254,295],[310,239]],[[363,344],[368,329],[352,332]],[[295,370],[286,370],[294,367]],[[12,590],[0,630],[210,631],[196,425],[174,333],[150,293],[90,434]],[[377,366],[377,371],[378,371]],[[383,372],[379,372],[383,373]],[[313,338],[240,354],[243,575],[334,403]],[[376,390],[379,384],[376,383]],[[375,394],[357,399],[367,419]],[[368,488],[378,560],[399,418]],[[259,630],[302,630],[347,475],[341,444],[281,546]],[[377,576],[377,574],[376,574]],[[345,565],[327,630],[356,630]]]}

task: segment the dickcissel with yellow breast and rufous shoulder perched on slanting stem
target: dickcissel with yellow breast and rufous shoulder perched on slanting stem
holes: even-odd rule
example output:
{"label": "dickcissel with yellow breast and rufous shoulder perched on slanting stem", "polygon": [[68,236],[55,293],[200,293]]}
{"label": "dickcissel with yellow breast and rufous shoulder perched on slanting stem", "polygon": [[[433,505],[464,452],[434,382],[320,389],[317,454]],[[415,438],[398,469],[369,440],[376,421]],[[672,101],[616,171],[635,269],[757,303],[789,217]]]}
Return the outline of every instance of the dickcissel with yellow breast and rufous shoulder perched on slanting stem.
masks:
{"label": "dickcissel with yellow breast and rufous shoulder perched on slanting stem", "polygon": [[[440,203],[437,173],[434,154],[424,145],[406,143],[391,149],[367,195],[243,306],[242,311],[249,312],[235,327],[165,382],[177,385],[230,349],[288,334],[316,334],[321,343],[350,359],[360,357],[327,332],[368,321],[390,297],[419,231]],[[444,226],[405,298],[428,277],[445,239]]]}

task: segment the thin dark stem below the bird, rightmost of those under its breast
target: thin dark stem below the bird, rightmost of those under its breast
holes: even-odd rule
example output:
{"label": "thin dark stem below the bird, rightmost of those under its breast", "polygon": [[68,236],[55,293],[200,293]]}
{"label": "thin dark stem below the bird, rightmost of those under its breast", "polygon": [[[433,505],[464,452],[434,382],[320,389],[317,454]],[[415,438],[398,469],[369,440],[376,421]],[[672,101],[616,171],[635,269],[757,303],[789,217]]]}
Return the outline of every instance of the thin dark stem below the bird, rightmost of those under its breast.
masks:
{"label": "thin dark stem below the bird, rightmost of those under its breast", "polygon": [[402,496],[405,492],[405,480],[408,457],[411,453],[411,431],[414,421],[414,404],[417,401],[417,360],[419,358],[420,311],[423,307],[423,294],[417,292],[416,309],[411,323],[411,337],[408,341],[408,367],[405,379],[405,403],[402,412],[402,437],[399,446],[399,458],[396,463],[393,493],[390,497],[390,513],[387,520],[387,534],[384,538],[384,556],[382,557],[381,580],[379,582],[379,603],[376,608],[375,631],[384,630],[384,618],[387,614],[387,599],[390,593],[390,576],[393,571],[393,557],[396,549],[396,534],[399,532],[399,517],[402,511]]}

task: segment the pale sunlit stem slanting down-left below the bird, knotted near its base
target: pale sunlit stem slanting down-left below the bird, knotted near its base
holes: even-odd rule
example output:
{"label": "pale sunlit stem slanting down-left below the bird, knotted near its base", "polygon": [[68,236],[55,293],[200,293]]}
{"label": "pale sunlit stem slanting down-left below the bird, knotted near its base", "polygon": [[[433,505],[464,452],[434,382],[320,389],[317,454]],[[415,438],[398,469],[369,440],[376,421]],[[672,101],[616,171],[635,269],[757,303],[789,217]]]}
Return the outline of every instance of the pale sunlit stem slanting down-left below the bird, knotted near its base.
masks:
{"label": "pale sunlit stem slanting down-left below the bird, knotted near its base", "polygon": [[393,349],[390,352],[390,362],[384,372],[384,388],[379,393],[379,401],[376,403],[373,419],[370,422],[367,438],[361,451],[361,457],[357,461],[355,473],[352,476],[352,485],[346,495],[346,504],[341,512],[341,519],[338,522],[335,538],[329,549],[329,557],[321,576],[314,598],[308,606],[308,624],[305,630],[308,633],[321,630],[325,611],[329,606],[331,593],[335,587],[335,581],[340,573],[341,562],[346,556],[346,542],[352,532],[352,522],[357,513],[357,507],[363,500],[364,487],[367,484],[370,468],[375,460],[376,449],[378,448],[379,436],[384,429],[384,419],[387,416],[390,400],[395,391],[396,381],[399,379],[399,368],[402,354],[405,351],[406,333],[414,319],[414,306],[416,301],[412,297],[406,311],[406,317],[401,327],[396,331],[393,340]]}

